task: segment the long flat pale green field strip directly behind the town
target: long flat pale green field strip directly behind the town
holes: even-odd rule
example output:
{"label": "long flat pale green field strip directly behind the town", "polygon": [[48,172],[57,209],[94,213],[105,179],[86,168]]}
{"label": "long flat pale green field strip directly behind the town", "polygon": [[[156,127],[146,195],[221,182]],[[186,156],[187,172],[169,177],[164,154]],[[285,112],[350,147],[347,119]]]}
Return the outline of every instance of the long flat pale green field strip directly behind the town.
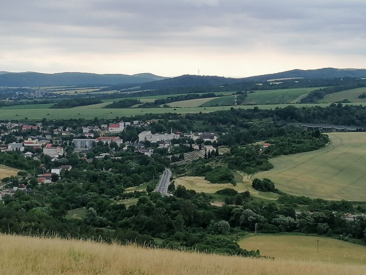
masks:
{"label": "long flat pale green field strip directly behind the town", "polygon": [[[354,103],[359,104],[359,103]],[[362,103],[366,106],[366,103]],[[31,105],[28,105],[31,107]],[[242,105],[237,106],[240,109],[253,109],[258,107],[259,109],[270,110],[276,107],[284,108],[287,106],[295,107],[311,107],[311,106],[329,106],[328,103],[324,104],[265,104],[265,105]],[[89,106],[90,107],[90,106]],[[234,106],[214,106],[214,107],[192,107],[192,108],[127,108],[127,109],[78,109],[74,107],[70,109],[16,109],[16,110],[4,110],[0,108],[0,117],[3,120],[19,119],[27,117],[29,120],[41,120],[47,118],[49,120],[54,119],[70,119],[70,118],[85,118],[93,119],[98,118],[109,118],[113,119],[116,116],[119,117],[130,117],[134,115],[143,114],[164,114],[164,113],[177,113],[177,114],[194,114],[194,113],[210,113],[219,110],[230,110]],[[47,115],[48,114],[48,115]]]}

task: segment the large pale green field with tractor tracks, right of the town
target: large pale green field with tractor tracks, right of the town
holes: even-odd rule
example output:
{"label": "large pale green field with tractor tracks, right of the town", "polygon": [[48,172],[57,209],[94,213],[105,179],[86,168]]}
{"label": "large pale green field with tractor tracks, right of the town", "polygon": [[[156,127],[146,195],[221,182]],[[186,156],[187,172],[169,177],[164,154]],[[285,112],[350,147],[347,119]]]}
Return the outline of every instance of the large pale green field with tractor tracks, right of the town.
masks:
{"label": "large pale green field with tractor tracks, right of the town", "polygon": [[293,195],[327,200],[366,201],[366,133],[328,133],[320,150],[270,159],[274,168],[252,176],[267,177]]}

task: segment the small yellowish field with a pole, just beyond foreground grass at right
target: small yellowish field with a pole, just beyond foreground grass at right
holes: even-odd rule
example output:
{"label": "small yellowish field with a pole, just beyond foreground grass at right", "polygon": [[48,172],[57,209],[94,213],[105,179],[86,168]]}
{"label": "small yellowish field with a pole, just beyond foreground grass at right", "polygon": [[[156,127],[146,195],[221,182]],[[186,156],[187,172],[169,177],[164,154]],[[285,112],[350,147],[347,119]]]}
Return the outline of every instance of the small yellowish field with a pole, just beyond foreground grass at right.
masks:
{"label": "small yellowish field with a pole, just beyond foreground grass at right", "polygon": [[[319,240],[319,253],[317,253]],[[366,264],[366,246],[318,236],[259,235],[239,242],[240,247],[259,249],[276,260],[301,260],[335,264]]]}

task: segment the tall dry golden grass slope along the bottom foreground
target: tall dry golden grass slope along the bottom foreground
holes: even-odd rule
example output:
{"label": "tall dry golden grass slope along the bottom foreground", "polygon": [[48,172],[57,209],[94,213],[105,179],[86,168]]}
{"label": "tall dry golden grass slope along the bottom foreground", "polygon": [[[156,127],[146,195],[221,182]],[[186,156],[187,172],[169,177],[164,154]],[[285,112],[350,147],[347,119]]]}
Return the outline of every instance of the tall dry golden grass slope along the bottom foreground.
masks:
{"label": "tall dry golden grass slope along the bottom foreground", "polygon": [[364,275],[365,267],[0,235],[1,275]]}

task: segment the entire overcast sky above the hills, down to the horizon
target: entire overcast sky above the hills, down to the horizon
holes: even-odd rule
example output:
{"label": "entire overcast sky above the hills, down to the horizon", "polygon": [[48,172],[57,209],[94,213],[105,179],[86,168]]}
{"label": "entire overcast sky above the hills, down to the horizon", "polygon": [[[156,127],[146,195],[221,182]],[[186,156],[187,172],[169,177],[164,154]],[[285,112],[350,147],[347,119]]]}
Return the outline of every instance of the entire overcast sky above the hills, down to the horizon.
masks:
{"label": "entire overcast sky above the hills, down to the horizon", "polygon": [[364,0],[2,0],[0,71],[247,77],[366,67]]}

